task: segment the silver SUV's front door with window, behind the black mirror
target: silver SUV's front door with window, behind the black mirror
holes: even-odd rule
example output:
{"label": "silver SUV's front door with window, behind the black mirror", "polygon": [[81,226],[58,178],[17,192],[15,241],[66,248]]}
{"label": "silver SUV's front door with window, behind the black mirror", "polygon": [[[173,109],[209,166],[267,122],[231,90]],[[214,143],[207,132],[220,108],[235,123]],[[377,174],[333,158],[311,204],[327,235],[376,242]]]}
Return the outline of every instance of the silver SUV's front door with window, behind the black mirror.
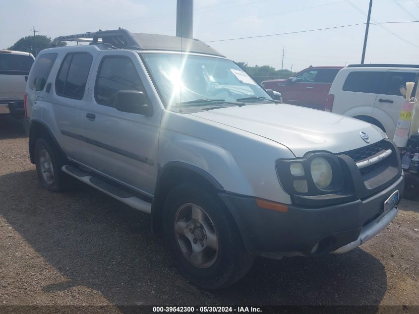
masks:
{"label": "silver SUV's front door with window, behind the black mirror", "polygon": [[137,53],[105,51],[92,81],[92,101],[83,111],[83,163],[151,196],[157,178],[157,149],[161,110],[146,117],[118,111],[120,90],[151,94],[151,84]]}

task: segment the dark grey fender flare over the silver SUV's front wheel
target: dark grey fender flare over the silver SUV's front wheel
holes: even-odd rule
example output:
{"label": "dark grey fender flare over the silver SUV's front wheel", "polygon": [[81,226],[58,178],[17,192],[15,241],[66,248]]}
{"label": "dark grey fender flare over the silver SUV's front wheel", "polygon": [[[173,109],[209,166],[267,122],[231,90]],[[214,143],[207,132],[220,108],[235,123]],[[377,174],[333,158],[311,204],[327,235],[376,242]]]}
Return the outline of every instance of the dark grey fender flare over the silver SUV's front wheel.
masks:
{"label": "dark grey fender flare over the silver SUV's front wheel", "polygon": [[182,181],[194,182],[214,192],[224,191],[223,186],[213,176],[196,166],[180,161],[171,161],[163,168],[159,167],[151,207],[151,230],[154,234],[162,234],[162,215],[166,197],[171,189]]}

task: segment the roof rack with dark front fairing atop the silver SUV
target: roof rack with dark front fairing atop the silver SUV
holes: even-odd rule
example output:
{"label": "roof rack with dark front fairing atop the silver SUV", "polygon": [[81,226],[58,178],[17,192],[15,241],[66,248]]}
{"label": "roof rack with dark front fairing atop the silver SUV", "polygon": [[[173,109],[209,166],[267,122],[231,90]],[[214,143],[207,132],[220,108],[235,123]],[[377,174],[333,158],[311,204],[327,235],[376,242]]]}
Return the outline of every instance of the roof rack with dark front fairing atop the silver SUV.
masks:
{"label": "roof rack with dark front fairing atop the silver SUV", "polygon": [[90,45],[104,45],[102,49],[134,49],[182,51],[224,57],[198,39],[181,38],[168,35],[130,33],[126,29],[99,30],[82,34],[60,36],[53,40],[52,46],[64,41],[89,42]]}

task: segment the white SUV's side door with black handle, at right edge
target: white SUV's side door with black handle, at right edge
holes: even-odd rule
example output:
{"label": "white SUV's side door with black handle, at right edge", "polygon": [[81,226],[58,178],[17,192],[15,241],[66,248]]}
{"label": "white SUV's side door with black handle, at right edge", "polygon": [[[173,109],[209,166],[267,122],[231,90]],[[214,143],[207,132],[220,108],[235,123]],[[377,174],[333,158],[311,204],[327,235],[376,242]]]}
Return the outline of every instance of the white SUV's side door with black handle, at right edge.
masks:
{"label": "white SUV's side door with black handle, at right edge", "polygon": [[[418,71],[415,70],[388,70],[386,72],[385,82],[380,93],[377,94],[375,100],[372,117],[380,121],[387,135],[393,138],[396,130],[397,121],[399,120],[402,105],[405,97],[401,93],[401,87],[406,88],[406,82],[418,82]],[[415,84],[412,96],[415,96]]]}

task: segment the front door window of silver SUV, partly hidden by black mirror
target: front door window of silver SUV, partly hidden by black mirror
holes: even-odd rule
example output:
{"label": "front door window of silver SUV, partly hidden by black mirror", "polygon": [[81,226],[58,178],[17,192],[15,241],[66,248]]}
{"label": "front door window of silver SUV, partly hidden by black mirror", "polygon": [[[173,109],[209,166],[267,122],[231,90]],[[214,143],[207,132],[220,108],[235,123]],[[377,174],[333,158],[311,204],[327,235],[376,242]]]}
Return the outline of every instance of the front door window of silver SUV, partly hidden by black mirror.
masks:
{"label": "front door window of silver SUV, partly hidden by black mirror", "polygon": [[131,59],[123,56],[104,57],[96,78],[95,99],[101,105],[114,107],[115,94],[120,90],[136,90],[145,94]]}

